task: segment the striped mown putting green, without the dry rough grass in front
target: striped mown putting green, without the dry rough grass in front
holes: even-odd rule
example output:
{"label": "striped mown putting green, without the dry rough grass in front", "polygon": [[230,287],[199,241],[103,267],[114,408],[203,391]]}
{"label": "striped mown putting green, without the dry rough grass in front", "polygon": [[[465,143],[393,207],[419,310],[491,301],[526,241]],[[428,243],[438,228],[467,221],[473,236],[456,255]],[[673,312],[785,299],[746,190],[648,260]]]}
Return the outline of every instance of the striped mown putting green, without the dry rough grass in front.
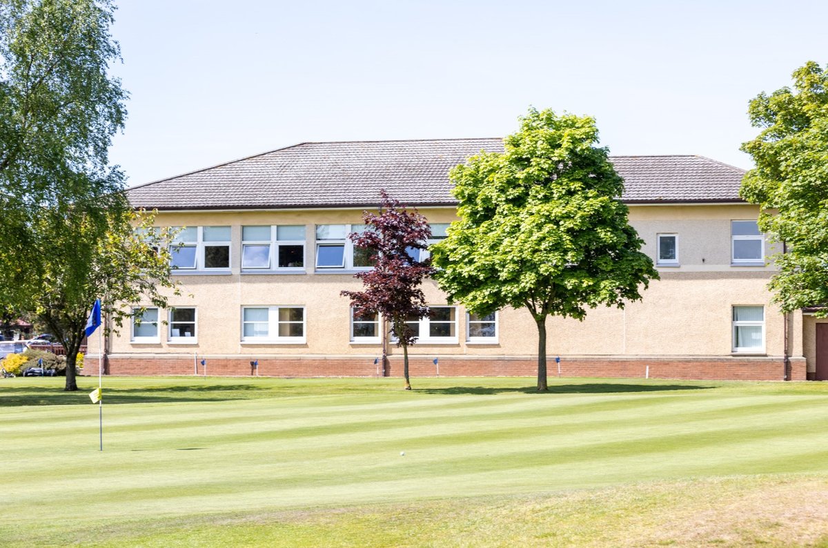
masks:
{"label": "striped mown putting green, without the dry rough grass in front", "polygon": [[[229,515],[828,472],[828,385],[525,378],[0,383],[0,544]],[[401,451],[405,452],[401,456]],[[130,532],[132,531],[132,532]],[[122,539],[123,541],[123,539]],[[117,542],[116,542],[117,543]],[[123,542],[122,542],[123,543]]]}

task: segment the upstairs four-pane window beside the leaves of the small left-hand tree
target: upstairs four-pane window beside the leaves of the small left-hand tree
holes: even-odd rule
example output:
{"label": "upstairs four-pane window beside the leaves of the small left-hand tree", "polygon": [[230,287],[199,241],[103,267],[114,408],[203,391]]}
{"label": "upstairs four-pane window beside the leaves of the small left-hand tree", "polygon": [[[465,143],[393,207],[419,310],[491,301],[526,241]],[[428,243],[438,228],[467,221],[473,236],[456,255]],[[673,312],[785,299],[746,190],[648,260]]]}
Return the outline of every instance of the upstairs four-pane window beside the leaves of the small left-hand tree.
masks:
{"label": "upstairs four-pane window beside the leaves of the small left-hand tree", "polygon": [[181,228],[170,248],[170,266],[175,270],[228,270],[230,227]]}

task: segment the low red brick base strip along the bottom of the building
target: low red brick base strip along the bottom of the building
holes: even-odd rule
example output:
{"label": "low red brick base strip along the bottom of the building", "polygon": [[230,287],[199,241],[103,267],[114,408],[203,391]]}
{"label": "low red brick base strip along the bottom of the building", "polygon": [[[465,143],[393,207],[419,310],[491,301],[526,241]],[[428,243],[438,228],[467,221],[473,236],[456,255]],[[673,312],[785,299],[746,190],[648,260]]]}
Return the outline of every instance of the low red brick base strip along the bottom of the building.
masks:
{"label": "low red brick base strip along the bottom of the building", "polygon": [[[204,367],[198,358],[197,371]],[[205,358],[207,374],[215,376],[249,376],[256,372],[249,358]],[[537,358],[472,358],[441,357],[438,367],[433,358],[413,356],[409,360],[412,377],[518,377],[537,374]],[[547,363],[549,377],[557,377],[554,358]],[[805,380],[805,360],[792,358],[790,380]],[[647,372],[647,368],[649,371]],[[110,375],[192,375],[192,356],[124,356],[108,357]],[[258,374],[262,377],[378,377],[382,365],[373,359],[349,357],[272,357],[258,358]],[[784,380],[782,358],[562,358],[561,377],[631,377],[700,379],[700,380]],[[386,376],[402,376],[402,358],[388,360]]]}

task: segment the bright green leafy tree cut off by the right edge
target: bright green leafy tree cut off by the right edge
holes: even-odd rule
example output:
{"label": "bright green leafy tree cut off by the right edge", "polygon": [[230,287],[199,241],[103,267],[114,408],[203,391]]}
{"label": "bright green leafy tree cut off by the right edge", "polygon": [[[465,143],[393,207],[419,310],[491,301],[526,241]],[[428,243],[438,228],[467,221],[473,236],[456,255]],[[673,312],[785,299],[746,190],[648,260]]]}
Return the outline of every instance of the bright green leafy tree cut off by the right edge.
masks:
{"label": "bright green leafy tree cut off by the right edge", "polygon": [[809,61],[793,72],[793,89],[758,94],[749,117],[762,131],[742,144],[755,167],[739,194],[759,205],[759,228],[784,243],[773,299],[784,312],[828,305],[828,73]]}

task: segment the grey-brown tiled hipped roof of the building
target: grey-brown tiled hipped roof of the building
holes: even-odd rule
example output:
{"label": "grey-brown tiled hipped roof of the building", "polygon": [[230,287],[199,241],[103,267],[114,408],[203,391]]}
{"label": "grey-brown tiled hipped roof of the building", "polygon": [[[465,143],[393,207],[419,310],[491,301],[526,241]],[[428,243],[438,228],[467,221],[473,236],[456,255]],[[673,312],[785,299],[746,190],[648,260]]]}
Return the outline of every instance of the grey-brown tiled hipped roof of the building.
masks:
{"label": "grey-brown tiled hipped roof of the building", "polygon": [[[129,189],[136,208],[286,209],[455,204],[448,171],[503,140],[305,142]],[[739,202],[744,171],[702,156],[613,156],[629,203]]]}

